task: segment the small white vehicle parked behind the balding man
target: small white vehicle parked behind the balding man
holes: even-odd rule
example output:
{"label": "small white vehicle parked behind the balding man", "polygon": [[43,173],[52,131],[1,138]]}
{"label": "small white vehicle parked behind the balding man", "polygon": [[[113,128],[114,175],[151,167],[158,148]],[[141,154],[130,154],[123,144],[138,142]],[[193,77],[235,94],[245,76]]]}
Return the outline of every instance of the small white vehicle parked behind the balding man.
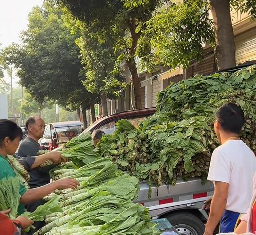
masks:
{"label": "small white vehicle parked behind the balding man", "polygon": [[81,132],[80,121],[52,122],[45,127],[43,138],[39,144],[43,149],[53,150],[78,136]]}

